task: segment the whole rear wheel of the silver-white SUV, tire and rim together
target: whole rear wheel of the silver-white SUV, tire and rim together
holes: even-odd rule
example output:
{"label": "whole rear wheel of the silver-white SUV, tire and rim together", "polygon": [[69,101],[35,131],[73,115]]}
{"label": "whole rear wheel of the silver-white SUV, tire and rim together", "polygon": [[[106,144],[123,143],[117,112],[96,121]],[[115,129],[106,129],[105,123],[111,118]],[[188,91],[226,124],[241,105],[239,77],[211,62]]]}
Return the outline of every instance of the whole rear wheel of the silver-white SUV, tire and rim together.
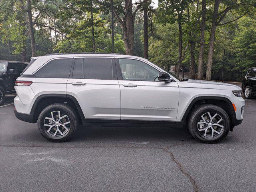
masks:
{"label": "whole rear wheel of the silver-white SUV, tire and rim together", "polygon": [[63,142],[71,138],[78,122],[77,113],[71,106],[57,103],[42,110],[37,124],[44,138],[53,142]]}

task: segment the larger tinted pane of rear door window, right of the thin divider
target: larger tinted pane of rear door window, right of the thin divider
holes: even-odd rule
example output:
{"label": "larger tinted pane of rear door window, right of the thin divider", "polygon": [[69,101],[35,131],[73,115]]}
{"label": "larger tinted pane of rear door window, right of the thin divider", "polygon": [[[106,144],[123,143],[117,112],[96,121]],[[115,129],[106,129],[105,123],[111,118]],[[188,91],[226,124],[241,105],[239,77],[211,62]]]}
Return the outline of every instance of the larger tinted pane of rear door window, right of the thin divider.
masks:
{"label": "larger tinted pane of rear door window, right of the thin divider", "polygon": [[113,79],[111,58],[84,58],[84,77],[86,79]]}

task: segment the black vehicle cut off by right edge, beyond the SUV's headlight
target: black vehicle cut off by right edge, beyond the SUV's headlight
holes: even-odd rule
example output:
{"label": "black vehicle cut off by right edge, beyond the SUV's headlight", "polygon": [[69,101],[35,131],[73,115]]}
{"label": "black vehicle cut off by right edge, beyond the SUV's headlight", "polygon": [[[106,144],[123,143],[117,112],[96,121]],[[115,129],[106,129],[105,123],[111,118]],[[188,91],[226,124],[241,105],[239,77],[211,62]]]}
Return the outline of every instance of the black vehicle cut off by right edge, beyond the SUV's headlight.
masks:
{"label": "black vehicle cut off by right edge, beyond the SUV's headlight", "polygon": [[248,69],[242,82],[242,89],[246,99],[256,96],[256,67]]}

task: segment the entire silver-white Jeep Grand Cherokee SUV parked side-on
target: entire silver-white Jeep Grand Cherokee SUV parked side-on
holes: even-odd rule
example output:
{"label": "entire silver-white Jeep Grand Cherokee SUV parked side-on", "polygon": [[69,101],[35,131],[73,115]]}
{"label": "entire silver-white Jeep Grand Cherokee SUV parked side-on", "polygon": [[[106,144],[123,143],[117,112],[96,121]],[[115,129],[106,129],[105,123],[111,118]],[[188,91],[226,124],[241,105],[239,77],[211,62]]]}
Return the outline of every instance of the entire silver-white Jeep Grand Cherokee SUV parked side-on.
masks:
{"label": "entire silver-white Jeep Grand Cherokee SUV parked side-on", "polygon": [[214,143],[242,122],[238,86],[180,79],[144,58],[121,54],[34,57],[16,80],[18,119],[36,123],[46,139],[69,139],[84,125],[187,124]]}

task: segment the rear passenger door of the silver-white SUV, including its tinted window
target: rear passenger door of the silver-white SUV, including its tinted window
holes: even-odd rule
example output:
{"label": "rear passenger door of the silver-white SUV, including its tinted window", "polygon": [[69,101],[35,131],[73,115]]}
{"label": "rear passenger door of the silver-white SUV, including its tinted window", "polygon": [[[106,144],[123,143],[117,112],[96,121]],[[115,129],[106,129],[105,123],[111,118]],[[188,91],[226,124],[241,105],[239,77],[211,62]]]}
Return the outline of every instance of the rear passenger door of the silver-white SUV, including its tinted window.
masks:
{"label": "rear passenger door of the silver-white SUV, including its tinted window", "polygon": [[120,120],[120,87],[112,58],[76,58],[67,82],[85,118]]}

